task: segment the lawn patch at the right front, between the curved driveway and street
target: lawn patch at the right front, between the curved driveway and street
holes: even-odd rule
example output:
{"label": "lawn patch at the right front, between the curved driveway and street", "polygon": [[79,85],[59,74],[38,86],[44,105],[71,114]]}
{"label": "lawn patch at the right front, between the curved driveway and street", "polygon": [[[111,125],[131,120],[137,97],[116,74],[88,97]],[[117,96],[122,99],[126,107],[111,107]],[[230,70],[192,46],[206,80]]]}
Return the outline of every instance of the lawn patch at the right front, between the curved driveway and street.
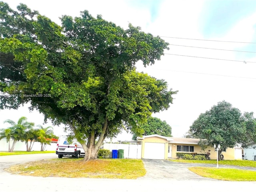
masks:
{"label": "lawn patch at the right front, between the curved driveway and street", "polygon": [[202,177],[218,180],[256,181],[256,171],[211,167],[190,167],[188,169]]}

